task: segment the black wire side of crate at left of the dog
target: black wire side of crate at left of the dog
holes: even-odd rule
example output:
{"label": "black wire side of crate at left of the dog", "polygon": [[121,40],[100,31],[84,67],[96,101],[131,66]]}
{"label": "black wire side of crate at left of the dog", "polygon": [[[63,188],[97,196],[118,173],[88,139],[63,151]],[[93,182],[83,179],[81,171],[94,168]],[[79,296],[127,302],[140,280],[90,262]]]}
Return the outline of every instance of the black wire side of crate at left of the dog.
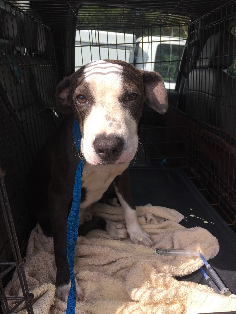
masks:
{"label": "black wire side of crate at left of the dog", "polygon": [[[58,70],[52,32],[44,23],[2,0],[0,20],[0,160],[4,169],[0,205],[1,303],[4,314],[14,312],[23,302],[27,312],[33,313],[33,295],[29,294],[25,260],[21,257],[35,225],[27,212],[27,173],[61,121],[54,97]],[[23,295],[15,299],[4,294],[14,269]],[[8,300],[17,300],[11,310]]]}

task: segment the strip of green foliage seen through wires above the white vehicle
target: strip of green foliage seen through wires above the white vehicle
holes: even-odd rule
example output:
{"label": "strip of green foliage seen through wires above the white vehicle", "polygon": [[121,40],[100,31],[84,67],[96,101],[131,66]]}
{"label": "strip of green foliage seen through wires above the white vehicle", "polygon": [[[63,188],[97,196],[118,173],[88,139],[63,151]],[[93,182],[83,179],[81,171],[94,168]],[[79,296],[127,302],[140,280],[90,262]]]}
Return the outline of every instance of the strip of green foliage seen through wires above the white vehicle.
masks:
{"label": "strip of green foliage seen through wires above the white vehicle", "polygon": [[125,32],[134,34],[137,38],[158,35],[186,38],[188,28],[181,22],[182,19],[181,15],[162,12],[98,6],[83,6],[78,13],[83,29]]}

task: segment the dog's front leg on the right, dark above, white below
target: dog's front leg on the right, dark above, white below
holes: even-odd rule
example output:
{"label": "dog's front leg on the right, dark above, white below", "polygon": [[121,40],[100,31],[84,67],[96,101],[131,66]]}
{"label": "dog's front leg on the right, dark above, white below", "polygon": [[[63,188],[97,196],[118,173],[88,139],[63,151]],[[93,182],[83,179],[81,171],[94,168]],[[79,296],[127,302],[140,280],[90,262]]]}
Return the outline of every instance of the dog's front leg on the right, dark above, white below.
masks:
{"label": "dog's front leg on the right, dark above, white below", "polygon": [[120,176],[115,177],[114,187],[116,195],[124,209],[126,229],[132,243],[152,246],[153,241],[150,239],[149,235],[143,231],[138,222],[138,216],[131,193],[128,168]]}

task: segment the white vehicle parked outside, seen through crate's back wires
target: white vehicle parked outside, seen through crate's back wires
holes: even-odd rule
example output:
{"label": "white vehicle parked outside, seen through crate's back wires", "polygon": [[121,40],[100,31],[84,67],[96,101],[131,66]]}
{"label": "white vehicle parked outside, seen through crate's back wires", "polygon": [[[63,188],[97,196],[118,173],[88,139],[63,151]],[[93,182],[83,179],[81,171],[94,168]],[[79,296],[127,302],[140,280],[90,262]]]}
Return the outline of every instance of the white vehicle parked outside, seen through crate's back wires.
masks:
{"label": "white vehicle parked outside, seen through crate's back wires", "polygon": [[75,71],[101,59],[118,59],[140,70],[161,74],[167,89],[175,89],[179,61],[186,39],[168,36],[139,37],[101,30],[77,30]]}

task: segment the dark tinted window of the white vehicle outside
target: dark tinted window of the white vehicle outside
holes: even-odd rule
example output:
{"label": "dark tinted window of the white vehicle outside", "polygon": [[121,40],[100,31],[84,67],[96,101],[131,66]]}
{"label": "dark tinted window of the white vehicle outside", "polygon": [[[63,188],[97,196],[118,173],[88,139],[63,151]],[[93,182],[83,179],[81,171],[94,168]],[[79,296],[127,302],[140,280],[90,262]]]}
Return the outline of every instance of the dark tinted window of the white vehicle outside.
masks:
{"label": "dark tinted window of the white vehicle outside", "polygon": [[170,83],[170,88],[172,85],[175,86],[177,80],[183,48],[184,46],[172,44],[160,44],[157,46],[154,71],[161,74],[164,82]]}

